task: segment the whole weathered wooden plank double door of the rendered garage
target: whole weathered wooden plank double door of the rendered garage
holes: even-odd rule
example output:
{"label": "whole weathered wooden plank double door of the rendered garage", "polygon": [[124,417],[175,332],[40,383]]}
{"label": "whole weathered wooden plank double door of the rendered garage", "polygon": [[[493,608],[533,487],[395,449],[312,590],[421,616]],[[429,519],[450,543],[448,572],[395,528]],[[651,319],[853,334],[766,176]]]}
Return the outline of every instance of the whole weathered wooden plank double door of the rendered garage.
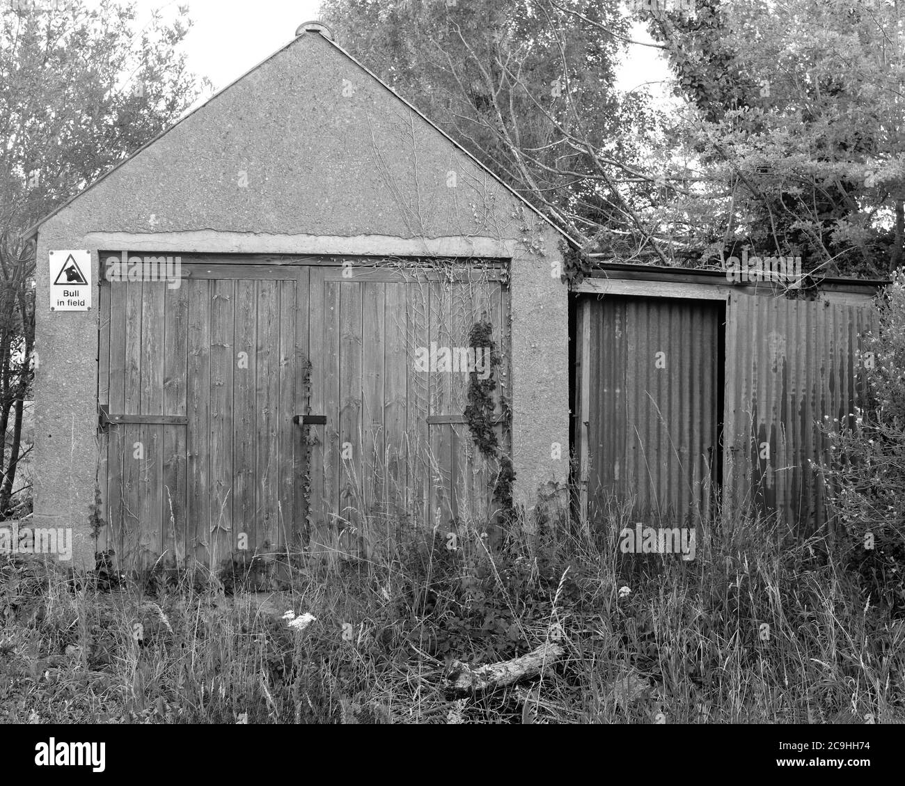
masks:
{"label": "whole weathered wooden plank double door of the rendered garage", "polygon": [[101,286],[99,546],[121,565],[332,559],[492,517],[471,375],[431,359],[490,322],[501,414],[501,265],[184,254],[179,273]]}

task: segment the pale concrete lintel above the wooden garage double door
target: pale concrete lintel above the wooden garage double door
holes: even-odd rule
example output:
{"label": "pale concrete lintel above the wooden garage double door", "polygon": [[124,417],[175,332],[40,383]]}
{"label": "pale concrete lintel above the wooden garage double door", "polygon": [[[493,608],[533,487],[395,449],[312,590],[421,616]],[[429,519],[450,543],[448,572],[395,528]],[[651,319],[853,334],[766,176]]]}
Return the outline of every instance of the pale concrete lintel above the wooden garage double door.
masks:
{"label": "pale concrete lintel above the wooden garage double door", "polygon": [[270,235],[254,232],[90,232],[89,248],[180,251],[185,254],[352,254],[360,256],[462,256],[510,259],[515,241],[492,237],[392,237],[389,235]]}

